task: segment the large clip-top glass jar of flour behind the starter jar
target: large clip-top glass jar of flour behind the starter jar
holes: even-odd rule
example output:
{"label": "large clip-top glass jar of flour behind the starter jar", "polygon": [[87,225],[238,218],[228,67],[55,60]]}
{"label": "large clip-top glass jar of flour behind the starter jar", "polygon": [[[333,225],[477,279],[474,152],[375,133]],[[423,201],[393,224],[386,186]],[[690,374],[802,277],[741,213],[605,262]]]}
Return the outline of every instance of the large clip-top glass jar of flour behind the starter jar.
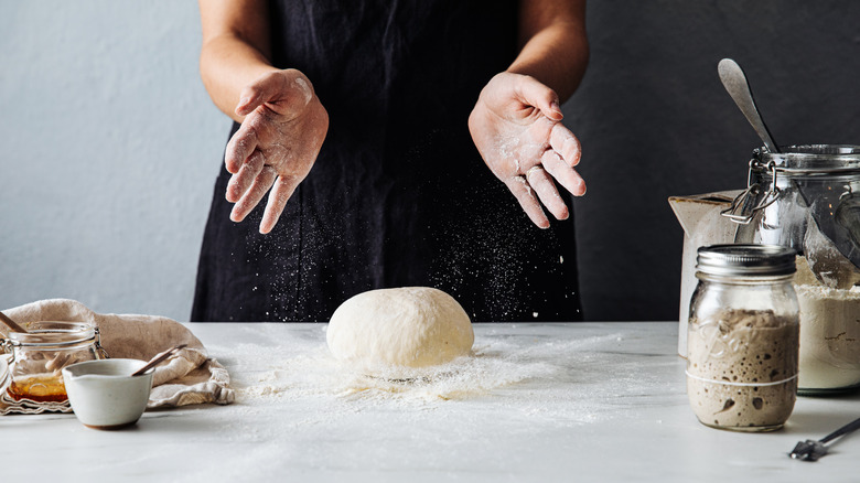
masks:
{"label": "large clip-top glass jar of flour behind the starter jar", "polygon": [[749,187],[725,215],[738,243],[797,249],[800,394],[860,385],[860,147],[753,152]]}

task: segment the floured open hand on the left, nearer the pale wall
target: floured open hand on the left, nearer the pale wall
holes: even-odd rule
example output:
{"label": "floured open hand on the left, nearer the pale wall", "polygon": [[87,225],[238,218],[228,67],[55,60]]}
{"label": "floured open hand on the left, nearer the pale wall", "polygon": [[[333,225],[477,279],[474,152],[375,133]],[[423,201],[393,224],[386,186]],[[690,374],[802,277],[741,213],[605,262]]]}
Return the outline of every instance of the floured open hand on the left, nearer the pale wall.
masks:
{"label": "floured open hand on the left, nearer the pale wall", "polygon": [[269,233],[316,161],[329,130],[329,112],[308,77],[286,69],[246,86],[236,114],[245,119],[224,155],[233,173],[226,197],[236,203],[230,219],[245,219],[271,189],[260,222],[260,233]]}

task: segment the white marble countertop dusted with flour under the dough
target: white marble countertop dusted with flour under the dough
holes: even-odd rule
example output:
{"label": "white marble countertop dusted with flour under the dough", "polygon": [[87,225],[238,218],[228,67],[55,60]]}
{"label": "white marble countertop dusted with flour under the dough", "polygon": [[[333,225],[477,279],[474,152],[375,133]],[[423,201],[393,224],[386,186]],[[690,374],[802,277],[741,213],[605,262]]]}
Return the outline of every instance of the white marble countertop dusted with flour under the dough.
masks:
{"label": "white marble countertop dusted with flour under the dough", "polygon": [[123,431],[73,415],[0,417],[8,481],[858,481],[860,395],[800,397],[786,427],[737,433],[688,407],[677,322],[475,324],[462,371],[420,384],[350,374],[325,324],[189,324],[230,406],[148,411]]}

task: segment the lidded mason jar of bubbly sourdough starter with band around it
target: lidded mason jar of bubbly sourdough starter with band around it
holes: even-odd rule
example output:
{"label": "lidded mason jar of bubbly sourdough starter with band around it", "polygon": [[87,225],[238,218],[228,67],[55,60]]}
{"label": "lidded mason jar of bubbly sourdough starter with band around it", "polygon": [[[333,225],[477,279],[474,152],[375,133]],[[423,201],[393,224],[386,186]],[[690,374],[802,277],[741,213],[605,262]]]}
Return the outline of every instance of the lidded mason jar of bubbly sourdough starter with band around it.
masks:
{"label": "lidded mason jar of bubbly sourdough starter with band around it", "polygon": [[687,395],[706,426],[783,427],[797,393],[795,251],[773,245],[698,250],[687,333]]}

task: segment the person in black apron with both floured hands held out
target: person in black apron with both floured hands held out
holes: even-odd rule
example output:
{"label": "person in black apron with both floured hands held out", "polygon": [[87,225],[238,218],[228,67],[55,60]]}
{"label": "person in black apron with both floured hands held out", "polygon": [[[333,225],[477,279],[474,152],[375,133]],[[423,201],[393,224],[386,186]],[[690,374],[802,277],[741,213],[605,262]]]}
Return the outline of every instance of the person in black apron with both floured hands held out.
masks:
{"label": "person in black apron with both floured hands held out", "polygon": [[324,322],[408,286],[473,321],[581,320],[573,223],[548,216],[584,193],[558,104],[584,0],[200,3],[202,77],[235,122],[192,321]]}

